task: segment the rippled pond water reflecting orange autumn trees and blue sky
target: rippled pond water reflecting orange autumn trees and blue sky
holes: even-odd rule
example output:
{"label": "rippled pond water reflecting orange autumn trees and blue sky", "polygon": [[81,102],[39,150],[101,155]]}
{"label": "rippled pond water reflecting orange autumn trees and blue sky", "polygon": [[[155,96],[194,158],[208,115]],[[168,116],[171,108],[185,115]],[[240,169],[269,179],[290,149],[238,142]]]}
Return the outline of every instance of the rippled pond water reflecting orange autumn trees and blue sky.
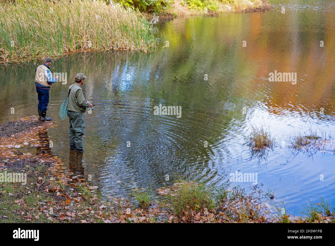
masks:
{"label": "rippled pond water reflecting orange autumn trees and blue sky", "polygon": [[[290,213],[319,196],[335,202],[334,156],[292,155],[282,146],[309,128],[334,133],[334,3],[274,2],[269,12],[160,23],[169,47],[155,53],[81,53],[56,61],[52,72],[75,60],[68,84],[50,90],[48,114],[58,121],[48,132],[52,152],[68,160],[73,175],[92,175],[90,183],[103,194],[171,184],[175,174],[221,185],[240,171],[257,172],[258,182],[275,190]],[[297,83],[269,82],[275,70],[296,72]],[[73,156],[68,121],[58,110],[78,72],[88,77],[83,89],[90,102],[112,104],[85,113],[85,152]],[[1,67],[0,74],[0,121],[36,115],[34,64]],[[154,115],[159,104],[182,106],[182,117]],[[252,158],[241,145],[252,124],[268,127],[278,143],[266,158]]]}

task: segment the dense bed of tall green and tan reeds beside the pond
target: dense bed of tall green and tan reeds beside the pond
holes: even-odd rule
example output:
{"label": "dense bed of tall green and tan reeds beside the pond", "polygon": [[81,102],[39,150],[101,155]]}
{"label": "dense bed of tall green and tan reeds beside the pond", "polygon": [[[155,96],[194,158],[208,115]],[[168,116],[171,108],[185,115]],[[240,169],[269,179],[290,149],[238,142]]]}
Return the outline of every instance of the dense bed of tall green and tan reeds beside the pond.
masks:
{"label": "dense bed of tall green and tan reeds beside the pond", "polygon": [[142,50],[157,45],[148,20],[104,0],[0,2],[0,61],[78,50]]}

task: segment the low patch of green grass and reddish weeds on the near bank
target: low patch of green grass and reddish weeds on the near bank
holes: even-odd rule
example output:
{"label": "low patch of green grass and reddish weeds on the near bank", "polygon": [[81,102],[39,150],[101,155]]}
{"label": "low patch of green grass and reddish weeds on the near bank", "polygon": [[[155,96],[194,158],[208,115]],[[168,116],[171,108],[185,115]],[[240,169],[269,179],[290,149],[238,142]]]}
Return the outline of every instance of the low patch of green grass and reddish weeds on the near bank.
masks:
{"label": "low patch of green grass and reddish weeds on the near bank", "polygon": [[168,206],[179,222],[266,222],[264,195],[257,185],[247,194],[237,186],[212,189],[205,184],[179,180],[167,196]]}

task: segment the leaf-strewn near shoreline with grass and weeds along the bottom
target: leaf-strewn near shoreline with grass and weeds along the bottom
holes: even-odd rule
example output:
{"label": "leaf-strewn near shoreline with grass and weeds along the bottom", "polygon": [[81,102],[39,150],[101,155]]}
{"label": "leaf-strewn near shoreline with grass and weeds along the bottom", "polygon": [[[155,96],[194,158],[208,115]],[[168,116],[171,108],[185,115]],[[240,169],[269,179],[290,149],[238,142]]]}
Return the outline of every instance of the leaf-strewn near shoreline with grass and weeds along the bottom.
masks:
{"label": "leaf-strewn near shoreline with grass and weeds along the bottom", "polygon": [[[71,168],[66,172],[63,161],[51,153],[48,136],[48,128],[51,127],[57,127],[57,121],[42,122],[35,115],[0,124],[0,173],[24,171],[28,177],[25,185],[0,181],[0,204],[4,208],[0,211],[0,222],[335,222],[334,211],[324,207],[320,207],[322,210],[319,207],[311,208],[306,218],[291,217],[286,212],[282,214],[277,206],[272,207],[270,212],[265,206],[266,200],[273,199],[269,195],[274,194],[260,195],[263,194],[262,187],[257,185],[248,193],[238,187],[220,188],[215,196],[205,184],[177,179],[172,186],[153,191],[161,197],[157,201],[154,201],[151,188],[137,188],[128,198],[108,196],[103,199],[94,191],[98,187],[91,186],[83,173],[81,175],[77,169]],[[80,158],[80,154],[74,155],[74,158]],[[199,197],[200,203],[198,198],[188,200],[185,194]],[[201,200],[203,197],[207,198]],[[323,199],[321,204],[325,204]],[[198,209],[186,209],[190,206]]]}

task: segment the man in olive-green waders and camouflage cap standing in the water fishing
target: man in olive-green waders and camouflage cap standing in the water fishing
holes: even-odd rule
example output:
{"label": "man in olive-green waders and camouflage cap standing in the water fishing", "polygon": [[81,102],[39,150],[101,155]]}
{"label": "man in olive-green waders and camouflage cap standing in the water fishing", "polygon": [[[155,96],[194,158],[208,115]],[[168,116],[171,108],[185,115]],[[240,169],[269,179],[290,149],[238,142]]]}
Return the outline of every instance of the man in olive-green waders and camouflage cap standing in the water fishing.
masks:
{"label": "man in olive-green waders and camouflage cap standing in the water fishing", "polygon": [[82,73],[76,74],[76,83],[69,86],[69,103],[67,105],[67,115],[69,116],[70,131],[70,150],[76,153],[83,153],[83,135],[85,134],[85,123],[83,113],[87,107],[93,105],[85,99],[81,89],[84,79],[87,77]]}

